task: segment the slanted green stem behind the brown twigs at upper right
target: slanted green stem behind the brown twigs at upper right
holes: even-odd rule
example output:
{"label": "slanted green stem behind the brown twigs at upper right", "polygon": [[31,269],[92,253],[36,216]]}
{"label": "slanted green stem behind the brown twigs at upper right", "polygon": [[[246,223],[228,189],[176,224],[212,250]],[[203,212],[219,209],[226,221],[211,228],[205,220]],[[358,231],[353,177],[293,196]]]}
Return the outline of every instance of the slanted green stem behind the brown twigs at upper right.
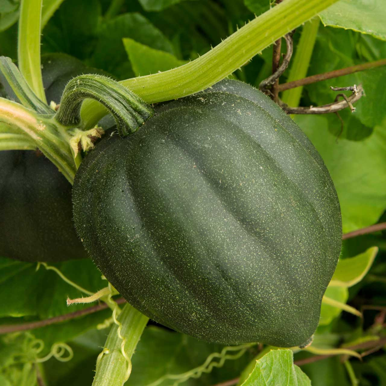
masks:
{"label": "slanted green stem behind the brown twigs at upper right", "polygon": [[[319,24],[319,17],[315,17],[304,25],[299,44],[293,58],[291,70],[289,71],[288,82],[304,78],[307,75],[313,47],[315,46],[318,34]],[[281,96],[281,100],[288,106],[298,107],[302,91],[303,87],[284,91]]]}

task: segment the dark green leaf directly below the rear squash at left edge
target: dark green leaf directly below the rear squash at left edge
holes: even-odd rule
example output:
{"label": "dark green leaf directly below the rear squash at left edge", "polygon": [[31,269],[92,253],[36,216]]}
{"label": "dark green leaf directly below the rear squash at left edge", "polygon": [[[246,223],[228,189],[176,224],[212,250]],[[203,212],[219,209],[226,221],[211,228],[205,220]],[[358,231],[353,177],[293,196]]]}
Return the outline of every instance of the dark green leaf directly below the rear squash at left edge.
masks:
{"label": "dark green leaf directly below the rear squash at left edge", "polygon": [[[89,259],[70,260],[56,267],[69,279],[89,291],[106,286]],[[78,298],[80,291],[65,283],[54,271],[36,264],[0,258],[0,317],[36,316],[41,319],[80,310],[90,305],[68,308],[67,296]]]}

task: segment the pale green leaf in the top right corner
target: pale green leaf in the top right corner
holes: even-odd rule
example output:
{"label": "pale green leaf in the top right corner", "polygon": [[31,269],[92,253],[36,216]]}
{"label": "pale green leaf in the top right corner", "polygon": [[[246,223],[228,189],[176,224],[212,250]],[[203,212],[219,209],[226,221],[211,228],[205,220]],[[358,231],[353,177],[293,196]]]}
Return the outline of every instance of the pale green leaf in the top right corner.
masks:
{"label": "pale green leaf in the top right corner", "polygon": [[340,0],[320,14],[324,25],[353,29],[386,40],[383,0]]}

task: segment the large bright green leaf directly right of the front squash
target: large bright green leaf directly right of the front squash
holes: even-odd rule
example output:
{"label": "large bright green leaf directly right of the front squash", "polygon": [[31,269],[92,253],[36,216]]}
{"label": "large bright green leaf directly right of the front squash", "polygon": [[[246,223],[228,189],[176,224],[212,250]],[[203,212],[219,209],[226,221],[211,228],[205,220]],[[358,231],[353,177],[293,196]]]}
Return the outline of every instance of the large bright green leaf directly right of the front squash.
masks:
{"label": "large bright green leaf directly right of the front squash", "polygon": [[[386,119],[363,141],[336,139],[322,116],[296,116],[295,121],[322,156],[334,181],[342,210],[343,232],[378,221],[386,208]],[[376,183],[374,183],[376,181]]]}

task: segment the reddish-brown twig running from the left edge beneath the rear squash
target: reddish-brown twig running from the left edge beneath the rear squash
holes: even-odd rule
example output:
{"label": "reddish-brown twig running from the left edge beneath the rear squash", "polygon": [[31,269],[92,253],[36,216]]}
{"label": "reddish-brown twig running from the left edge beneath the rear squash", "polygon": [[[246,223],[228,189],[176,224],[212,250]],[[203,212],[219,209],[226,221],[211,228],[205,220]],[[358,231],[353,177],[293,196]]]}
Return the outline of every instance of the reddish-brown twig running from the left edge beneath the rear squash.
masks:
{"label": "reddish-brown twig running from the left edge beneath the rear squash", "polygon": [[[115,301],[118,304],[122,304],[125,302],[125,299],[119,298]],[[59,316],[55,316],[44,320],[37,320],[36,322],[27,322],[27,323],[19,323],[19,324],[3,324],[0,326],[0,334],[8,334],[10,332],[16,332],[16,331],[33,330],[34,328],[45,327],[50,324],[60,323],[66,320],[71,320],[84,315],[88,315],[90,313],[98,312],[98,311],[104,310],[105,308],[108,308],[108,305],[106,303],[101,303],[96,306],[84,308],[83,310],[70,312],[64,315],[59,315]]]}

